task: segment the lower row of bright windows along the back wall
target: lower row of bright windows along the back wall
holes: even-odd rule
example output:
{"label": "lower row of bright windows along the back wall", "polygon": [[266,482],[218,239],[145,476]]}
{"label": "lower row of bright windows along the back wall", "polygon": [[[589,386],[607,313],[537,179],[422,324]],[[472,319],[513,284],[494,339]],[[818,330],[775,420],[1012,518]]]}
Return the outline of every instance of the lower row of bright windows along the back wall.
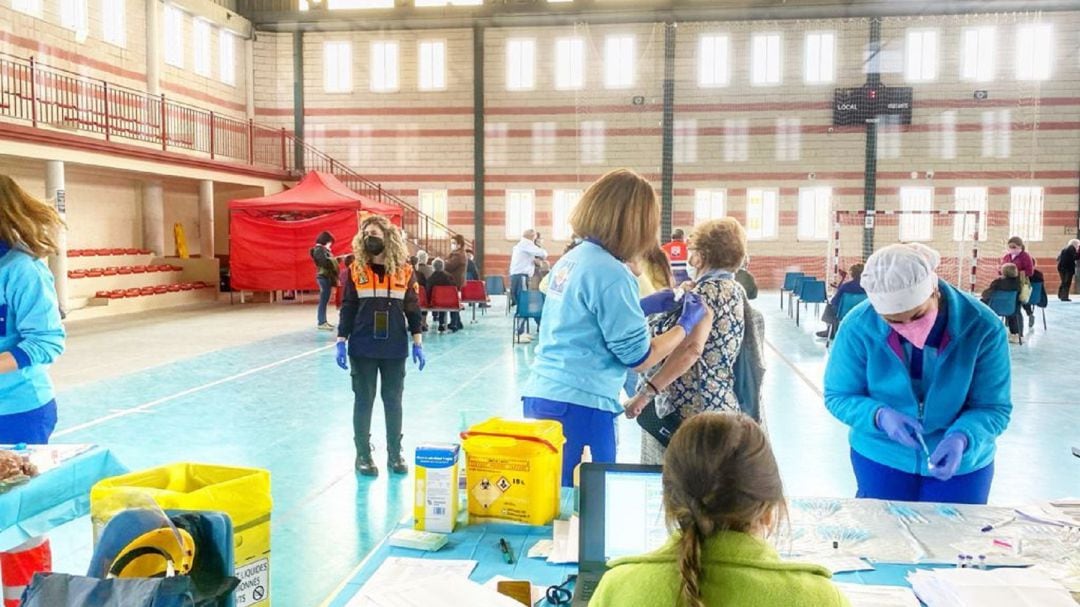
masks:
{"label": "lower row of bright windows along the back wall", "polygon": [[[571,237],[570,212],[581,198],[581,190],[557,189],[552,192],[552,238],[568,241]],[[522,232],[536,226],[535,190],[507,190],[505,238],[517,240]],[[984,187],[959,187],[954,191],[954,211],[978,214],[954,214],[953,240],[986,240],[988,191]],[[1042,240],[1041,187],[1018,186],[1010,190],[1009,233],[1026,241]],[[447,191],[420,190],[420,212],[448,224]],[[933,240],[934,189],[905,187],[900,189],[900,208],[920,214],[900,215],[900,240]],[[780,191],[775,188],[746,190],[745,229],[750,240],[771,240],[779,235]],[[800,241],[825,241],[833,230],[833,189],[828,187],[800,188],[798,193],[797,234]],[[727,215],[727,190],[698,189],[694,191],[694,224]],[[978,218],[976,225],[975,218]]]}

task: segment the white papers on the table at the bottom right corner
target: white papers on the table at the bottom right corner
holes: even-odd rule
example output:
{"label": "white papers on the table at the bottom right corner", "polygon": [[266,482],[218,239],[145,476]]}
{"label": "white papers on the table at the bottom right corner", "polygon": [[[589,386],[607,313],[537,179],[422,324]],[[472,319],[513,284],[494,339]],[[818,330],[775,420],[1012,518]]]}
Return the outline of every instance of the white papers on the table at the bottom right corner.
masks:
{"label": "white papers on the table at the bottom right corner", "polygon": [[927,607],[1076,607],[1062,584],[1031,569],[920,569],[907,579]]}

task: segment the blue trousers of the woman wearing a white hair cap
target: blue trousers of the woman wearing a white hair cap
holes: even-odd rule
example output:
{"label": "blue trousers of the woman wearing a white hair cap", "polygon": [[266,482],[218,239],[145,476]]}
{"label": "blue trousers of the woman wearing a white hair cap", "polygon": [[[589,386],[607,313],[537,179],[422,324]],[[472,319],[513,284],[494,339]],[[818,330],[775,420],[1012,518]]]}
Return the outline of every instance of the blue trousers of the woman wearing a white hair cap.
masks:
{"label": "blue trousers of the woman wearing a white hair cap", "polygon": [[858,498],[985,504],[994,481],[993,461],[948,481],[901,472],[865,458],[854,449],[851,449],[851,467],[859,484]]}

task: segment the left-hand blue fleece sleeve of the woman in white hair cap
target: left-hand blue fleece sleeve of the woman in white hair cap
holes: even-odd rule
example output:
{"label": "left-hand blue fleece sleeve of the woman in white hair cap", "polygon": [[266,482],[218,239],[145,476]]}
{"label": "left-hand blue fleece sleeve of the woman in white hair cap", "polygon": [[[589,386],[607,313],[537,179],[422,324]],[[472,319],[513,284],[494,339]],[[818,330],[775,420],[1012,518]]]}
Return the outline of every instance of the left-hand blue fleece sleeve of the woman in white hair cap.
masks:
{"label": "left-hand blue fleece sleeve of the woman in white hair cap", "polygon": [[[851,319],[852,321],[856,319]],[[874,423],[885,406],[869,397],[866,350],[852,323],[841,323],[825,365],[825,408],[836,419],[859,432],[880,432]]]}

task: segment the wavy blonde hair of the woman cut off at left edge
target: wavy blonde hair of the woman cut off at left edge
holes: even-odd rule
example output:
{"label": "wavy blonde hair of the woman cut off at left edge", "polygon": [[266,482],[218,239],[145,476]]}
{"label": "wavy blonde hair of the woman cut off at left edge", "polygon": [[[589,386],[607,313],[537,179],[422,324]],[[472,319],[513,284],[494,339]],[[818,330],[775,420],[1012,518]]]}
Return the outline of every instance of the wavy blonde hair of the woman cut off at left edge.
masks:
{"label": "wavy blonde hair of the woman cut off at left edge", "polygon": [[0,175],[0,241],[35,257],[48,257],[57,253],[56,231],[63,228],[55,208]]}

